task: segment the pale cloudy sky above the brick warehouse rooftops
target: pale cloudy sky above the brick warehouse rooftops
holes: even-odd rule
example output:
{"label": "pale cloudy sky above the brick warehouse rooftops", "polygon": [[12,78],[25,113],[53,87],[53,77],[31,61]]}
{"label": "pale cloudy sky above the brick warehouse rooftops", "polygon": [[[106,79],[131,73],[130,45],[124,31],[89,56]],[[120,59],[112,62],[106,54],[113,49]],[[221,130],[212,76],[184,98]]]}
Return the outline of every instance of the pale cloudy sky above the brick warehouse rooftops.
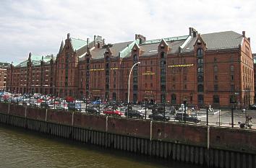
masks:
{"label": "pale cloudy sky above the brick warehouse rooftops", "polygon": [[256,53],[255,0],[1,0],[0,62],[20,62],[28,53],[45,56],[59,51],[71,37],[106,43],[232,30],[251,37]]}

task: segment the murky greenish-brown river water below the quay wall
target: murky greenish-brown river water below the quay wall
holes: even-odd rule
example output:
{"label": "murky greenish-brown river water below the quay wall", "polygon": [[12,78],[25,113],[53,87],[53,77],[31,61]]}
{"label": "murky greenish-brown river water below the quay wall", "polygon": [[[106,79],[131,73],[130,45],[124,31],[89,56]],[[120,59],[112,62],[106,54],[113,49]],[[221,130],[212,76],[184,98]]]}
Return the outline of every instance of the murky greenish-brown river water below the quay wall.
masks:
{"label": "murky greenish-brown river water below the quay wall", "polygon": [[0,125],[0,167],[198,168]]}

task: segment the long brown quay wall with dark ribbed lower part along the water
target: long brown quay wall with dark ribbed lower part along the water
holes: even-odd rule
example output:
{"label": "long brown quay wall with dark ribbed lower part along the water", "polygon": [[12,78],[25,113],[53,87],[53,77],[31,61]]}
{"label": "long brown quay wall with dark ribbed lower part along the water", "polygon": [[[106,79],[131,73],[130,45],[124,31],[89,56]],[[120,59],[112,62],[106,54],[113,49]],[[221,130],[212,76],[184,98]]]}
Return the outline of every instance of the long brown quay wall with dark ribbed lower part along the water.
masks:
{"label": "long brown quay wall with dark ribbed lower part along the water", "polygon": [[0,123],[204,167],[256,167],[256,132],[0,103]]}

